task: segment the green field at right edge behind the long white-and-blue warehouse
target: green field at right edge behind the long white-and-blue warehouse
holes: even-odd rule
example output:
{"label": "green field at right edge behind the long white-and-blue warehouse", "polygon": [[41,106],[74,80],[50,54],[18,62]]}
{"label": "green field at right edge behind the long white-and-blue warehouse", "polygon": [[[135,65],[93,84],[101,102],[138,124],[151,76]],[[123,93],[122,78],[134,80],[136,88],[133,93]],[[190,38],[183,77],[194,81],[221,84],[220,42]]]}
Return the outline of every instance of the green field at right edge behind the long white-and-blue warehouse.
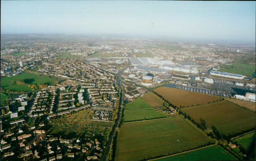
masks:
{"label": "green field at right edge behind the long white-and-blue warehouse", "polygon": [[239,62],[232,62],[232,65],[220,65],[221,72],[241,74],[247,77],[252,77],[255,71],[255,64],[244,64]]}

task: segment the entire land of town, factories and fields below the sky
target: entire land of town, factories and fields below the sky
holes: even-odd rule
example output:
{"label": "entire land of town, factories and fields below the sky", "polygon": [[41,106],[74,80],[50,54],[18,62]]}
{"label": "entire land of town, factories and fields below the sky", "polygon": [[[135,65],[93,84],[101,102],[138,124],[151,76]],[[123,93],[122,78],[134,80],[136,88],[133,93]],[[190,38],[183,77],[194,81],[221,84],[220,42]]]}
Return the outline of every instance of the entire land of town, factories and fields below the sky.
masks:
{"label": "entire land of town, factories and fields below the sky", "polygon": [[0,160],[255,160],[255,47],[1,32]]}

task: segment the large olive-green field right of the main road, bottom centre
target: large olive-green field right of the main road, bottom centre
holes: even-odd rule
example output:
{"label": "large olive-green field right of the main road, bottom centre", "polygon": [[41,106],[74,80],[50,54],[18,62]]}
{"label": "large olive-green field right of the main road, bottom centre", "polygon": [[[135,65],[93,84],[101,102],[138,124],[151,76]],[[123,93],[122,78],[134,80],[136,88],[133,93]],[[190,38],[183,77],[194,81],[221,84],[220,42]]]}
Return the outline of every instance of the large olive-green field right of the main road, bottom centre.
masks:
{"label": "large olive-green field right of the main road, bottom centre", "polygon": [[117,139],[117,161],[136,161],[196,148],[211,140],[181,118],[128,122]]}

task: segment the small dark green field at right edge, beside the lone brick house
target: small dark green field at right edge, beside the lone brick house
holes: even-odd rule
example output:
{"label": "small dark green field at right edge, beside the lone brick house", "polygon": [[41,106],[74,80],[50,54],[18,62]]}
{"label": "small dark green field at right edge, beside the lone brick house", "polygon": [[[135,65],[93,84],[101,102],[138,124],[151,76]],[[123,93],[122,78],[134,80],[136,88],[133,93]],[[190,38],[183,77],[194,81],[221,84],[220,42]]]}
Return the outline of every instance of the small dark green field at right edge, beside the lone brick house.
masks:
{"label": "small dark green field at right edge, beside the lone brick house", "polygon": [[[253,141],[255,142],[255,132],[239,137],[237,139],[235,139],[236,143],[238,143],[239,145],[241,145],[245,151],[249,151],[252,148],[252,143]],[[254,143],[255,146],[255,143]]]}

